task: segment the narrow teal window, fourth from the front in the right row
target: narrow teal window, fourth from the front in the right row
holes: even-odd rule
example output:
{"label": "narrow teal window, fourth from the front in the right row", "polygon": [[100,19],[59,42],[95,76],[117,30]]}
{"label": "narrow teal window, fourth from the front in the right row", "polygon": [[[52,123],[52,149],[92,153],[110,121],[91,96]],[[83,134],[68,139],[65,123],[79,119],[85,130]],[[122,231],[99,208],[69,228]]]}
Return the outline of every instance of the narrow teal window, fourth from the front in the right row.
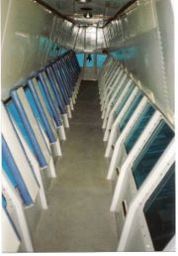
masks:
{"label": "narrow teal window, fourth from the front in the right row", "polygon": [[123,131],[123,129],[126,127],[127,123],[129,122],[131,116],[134,113],[135,108],[137,107],[137,105],[139,104],[139,102],[142,99],[142,92],[139,91],[137,93],[137,95],[134,97],[133,102],[131,103],[126,115],[123,117],[123,119],[121,120],[119,127],[120,127],[120,131]]}

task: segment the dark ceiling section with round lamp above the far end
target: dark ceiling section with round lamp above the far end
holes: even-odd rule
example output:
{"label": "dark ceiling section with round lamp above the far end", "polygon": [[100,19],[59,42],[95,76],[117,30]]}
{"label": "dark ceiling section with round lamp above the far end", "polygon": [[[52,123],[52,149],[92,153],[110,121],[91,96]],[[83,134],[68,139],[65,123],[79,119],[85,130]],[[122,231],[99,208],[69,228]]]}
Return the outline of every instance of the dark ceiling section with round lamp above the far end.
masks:
{"label": "dark ceiling section with round lamp above the far end", "polygon": [[[43,0],[57,12],[74,20],[77,25],[103,26],[108,19],[123,8],[131,0]],[[84,8],[84,9],[83,9]],[[91,10],[85,10],[91,8]],[[91,13],[92,18],[84,18],[85,13]]]}

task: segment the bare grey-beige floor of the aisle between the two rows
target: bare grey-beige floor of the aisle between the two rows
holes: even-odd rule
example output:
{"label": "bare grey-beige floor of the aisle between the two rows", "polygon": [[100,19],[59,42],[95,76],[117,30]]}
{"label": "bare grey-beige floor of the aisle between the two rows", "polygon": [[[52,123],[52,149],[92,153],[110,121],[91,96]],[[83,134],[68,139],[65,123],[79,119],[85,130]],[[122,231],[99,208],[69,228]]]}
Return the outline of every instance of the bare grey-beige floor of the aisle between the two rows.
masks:
{"label": "bare grey-beige floor of the aisle between the two rows", "polygon": [[35,239],[38,252],[115,251],[115,219],[109,211],[98,87],[83,81],[70,120],[57,179],[48,194]]}

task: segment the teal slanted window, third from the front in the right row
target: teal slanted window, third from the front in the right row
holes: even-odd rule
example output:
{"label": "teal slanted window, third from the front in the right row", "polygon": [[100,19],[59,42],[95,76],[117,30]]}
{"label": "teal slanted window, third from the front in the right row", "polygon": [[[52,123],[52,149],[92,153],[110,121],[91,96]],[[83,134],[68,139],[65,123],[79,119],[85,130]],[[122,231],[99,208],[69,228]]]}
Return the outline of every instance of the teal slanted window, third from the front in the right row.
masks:
{"label": "teal slanted window, third from the front in the right row", "polygon": [[133,129],[131,130],[130,134],[128,135],[125,141],[125,147],[128,154],[133,149],[134,143],[138,139],[141,132],[144,130],[154,111],[154,108],[150,104],[147,104],[143,112],[138,117],[137,121],[134,124]]}

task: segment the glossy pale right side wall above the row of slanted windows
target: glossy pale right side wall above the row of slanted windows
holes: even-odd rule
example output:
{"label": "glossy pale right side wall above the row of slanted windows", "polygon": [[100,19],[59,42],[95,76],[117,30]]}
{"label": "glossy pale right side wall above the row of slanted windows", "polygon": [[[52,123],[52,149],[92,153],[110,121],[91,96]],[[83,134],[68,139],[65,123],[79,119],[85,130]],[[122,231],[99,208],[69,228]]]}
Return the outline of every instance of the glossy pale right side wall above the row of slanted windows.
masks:
{"label": "glossy pale right side wall above the row of slanted windows", "polygon": [[105,30],[109,50],[174,118],[174,21],[170,0],[144,0]]}

